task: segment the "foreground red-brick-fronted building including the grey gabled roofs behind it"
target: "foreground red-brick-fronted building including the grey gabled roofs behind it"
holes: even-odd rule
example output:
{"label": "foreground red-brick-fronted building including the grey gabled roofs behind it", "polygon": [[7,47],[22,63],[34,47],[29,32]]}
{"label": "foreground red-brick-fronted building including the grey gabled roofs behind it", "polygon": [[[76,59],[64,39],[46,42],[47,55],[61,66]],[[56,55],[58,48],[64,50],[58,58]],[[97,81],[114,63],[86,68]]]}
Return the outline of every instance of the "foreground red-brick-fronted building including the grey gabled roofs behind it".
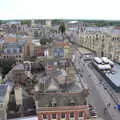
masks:
{"label": "foreground red-brick-fronted building including the grey gabled roofs behind it", "polygon": [[71,67],[51,70],[46,80],[41,79],[43,87],[34,92],[38,120],[88,120],[88,89]]}

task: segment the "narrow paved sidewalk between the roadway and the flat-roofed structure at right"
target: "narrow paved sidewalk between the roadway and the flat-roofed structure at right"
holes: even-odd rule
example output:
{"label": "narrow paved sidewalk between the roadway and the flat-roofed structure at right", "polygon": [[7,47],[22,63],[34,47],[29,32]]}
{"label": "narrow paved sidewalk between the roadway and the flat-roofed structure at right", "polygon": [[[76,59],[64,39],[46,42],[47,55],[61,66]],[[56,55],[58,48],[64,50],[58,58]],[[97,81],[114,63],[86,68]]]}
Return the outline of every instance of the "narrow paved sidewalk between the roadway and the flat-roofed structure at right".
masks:
{"label": "narrow paved sidewalk between the roadway and the flat-roofed structure at right", "polygon": [[118,110],[114,109],[114,106],[116,105],[109,93],[105,90],[102,84],[100,84],[98,78],[95,76],[92,70],[86,65],[88,68],[88,73],[92,76],[91,80],[94,81],[94,84],[100,93],[101,98],[103,98],[104,103],[107,105],[108,103],[111,103],[111,107],[108,108],[108,112],[110,113],[113,120],[120,120],[120,112]]}

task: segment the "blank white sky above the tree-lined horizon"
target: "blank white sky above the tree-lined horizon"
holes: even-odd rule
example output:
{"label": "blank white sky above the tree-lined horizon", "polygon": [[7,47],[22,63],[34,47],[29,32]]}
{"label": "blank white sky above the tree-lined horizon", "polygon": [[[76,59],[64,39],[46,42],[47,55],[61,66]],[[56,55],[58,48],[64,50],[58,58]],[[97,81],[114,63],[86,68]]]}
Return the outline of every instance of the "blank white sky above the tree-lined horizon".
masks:
{"label": "blank white sky above the tree-lined horizon", "polygon": [[0,20],[120,20],[119,0],[0,0]]}

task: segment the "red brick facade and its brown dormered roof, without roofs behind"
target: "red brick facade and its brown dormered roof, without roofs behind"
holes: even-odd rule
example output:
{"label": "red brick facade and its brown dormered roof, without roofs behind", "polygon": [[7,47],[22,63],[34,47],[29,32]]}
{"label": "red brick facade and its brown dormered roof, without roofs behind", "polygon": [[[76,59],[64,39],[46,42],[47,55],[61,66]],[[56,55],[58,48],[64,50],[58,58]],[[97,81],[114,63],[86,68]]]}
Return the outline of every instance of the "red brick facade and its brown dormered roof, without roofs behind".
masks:
{"label": "red brick facade and its brown dormered roof, without roofs behind", "polygon": [[74,93],[40,93],[37,99],[39,120],[87,120],[87,91]]}

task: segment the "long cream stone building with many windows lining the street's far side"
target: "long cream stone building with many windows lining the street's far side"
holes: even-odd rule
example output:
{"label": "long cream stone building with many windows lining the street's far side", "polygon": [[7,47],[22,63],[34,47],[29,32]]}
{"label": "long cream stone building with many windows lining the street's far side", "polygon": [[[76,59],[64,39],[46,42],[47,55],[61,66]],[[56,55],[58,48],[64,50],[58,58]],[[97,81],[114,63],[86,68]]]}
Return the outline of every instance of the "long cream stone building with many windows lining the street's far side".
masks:
{"label": "long cream stone building with many windows lining the street's far side", "polygon": [[120,30],[111,28],[111,31],[109,29],[107,31],[106,29],[96,28],[79,32],[75,42],[93,51],[98,57],[105,56],[120,62]]}

